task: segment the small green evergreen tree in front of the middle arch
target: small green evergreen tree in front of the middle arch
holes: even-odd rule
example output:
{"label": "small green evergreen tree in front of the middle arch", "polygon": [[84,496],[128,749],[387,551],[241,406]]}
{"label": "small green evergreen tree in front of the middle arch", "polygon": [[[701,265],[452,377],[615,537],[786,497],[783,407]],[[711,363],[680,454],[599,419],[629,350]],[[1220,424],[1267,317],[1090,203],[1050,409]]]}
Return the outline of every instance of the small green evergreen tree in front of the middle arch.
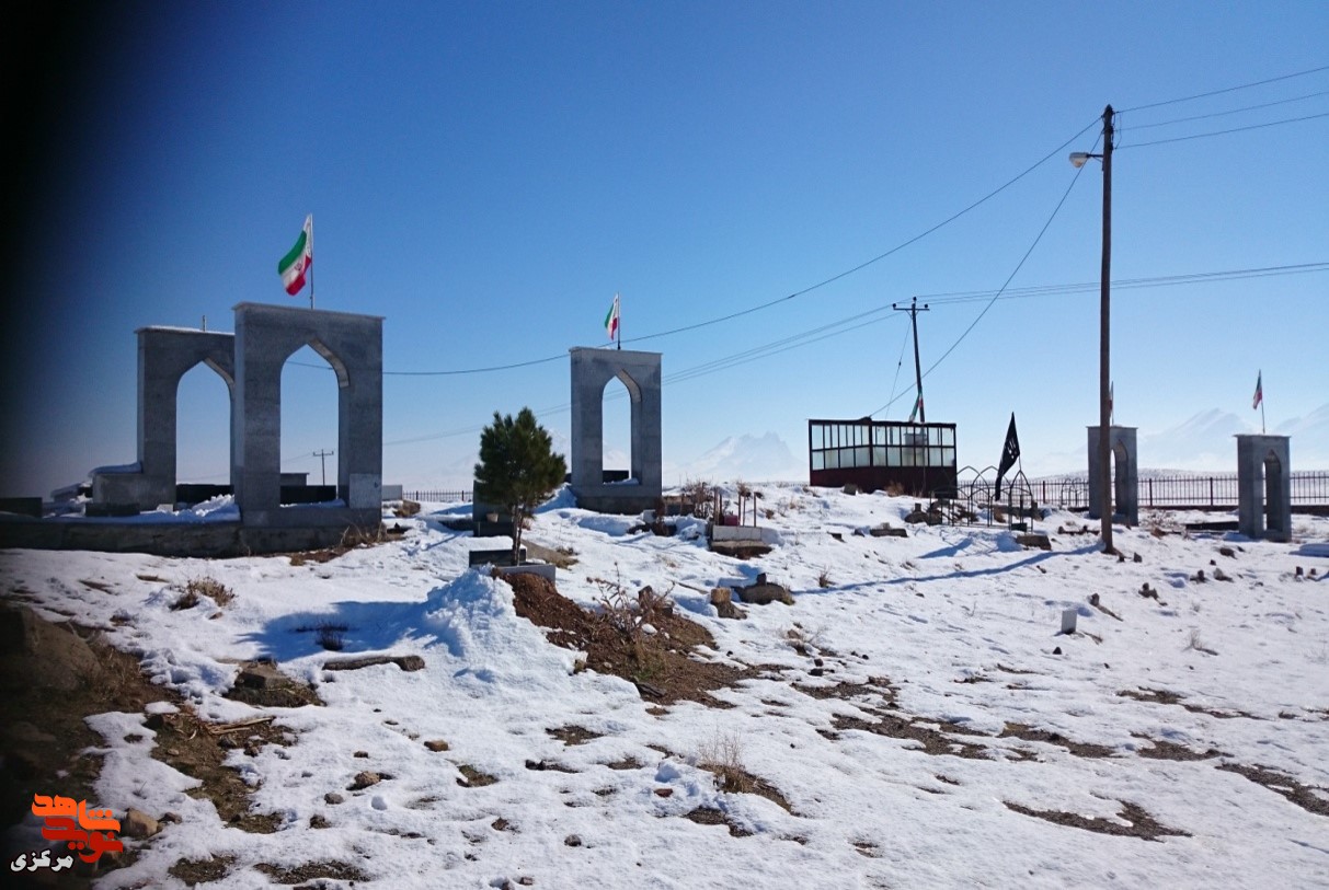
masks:
{"label": "small green evergreen tree in front of the middle arch", "polygon": [[512,515],[512,563],[521,555],[521,529],[526,517],[553,494],[567,476],[562,454],[554,454],[553,438],[522,408],[513,420],[494,412],[494,422],[480,433],[476,464],[476,498],[502,506]]}

